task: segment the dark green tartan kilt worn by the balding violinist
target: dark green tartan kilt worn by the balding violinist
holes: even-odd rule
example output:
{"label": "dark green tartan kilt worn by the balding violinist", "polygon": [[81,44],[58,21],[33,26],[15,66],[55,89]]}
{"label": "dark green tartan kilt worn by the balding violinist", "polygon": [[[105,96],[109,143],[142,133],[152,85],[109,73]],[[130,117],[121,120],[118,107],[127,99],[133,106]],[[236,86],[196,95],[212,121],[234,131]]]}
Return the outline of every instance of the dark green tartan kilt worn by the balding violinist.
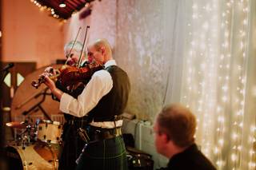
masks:
{"label": "dark green tartan kilt worn by the balding violinist", "polygon": [[77,162],[77,170],[128,170],[122,136],[86,144]]}

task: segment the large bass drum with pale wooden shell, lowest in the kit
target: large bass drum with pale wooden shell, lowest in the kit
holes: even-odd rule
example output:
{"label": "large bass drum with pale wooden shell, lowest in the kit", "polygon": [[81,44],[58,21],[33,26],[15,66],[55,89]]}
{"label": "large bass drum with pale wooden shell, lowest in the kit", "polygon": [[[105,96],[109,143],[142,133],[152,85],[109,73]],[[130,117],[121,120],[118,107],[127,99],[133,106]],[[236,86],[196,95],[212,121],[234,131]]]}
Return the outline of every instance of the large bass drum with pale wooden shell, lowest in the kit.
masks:
{"label": "large bass drum with pale wooden shell, lowest in the kit", "polygon": [[59,144],[38,141],[26,148],[8,146],[5,150],[8,169],[58,169]]}

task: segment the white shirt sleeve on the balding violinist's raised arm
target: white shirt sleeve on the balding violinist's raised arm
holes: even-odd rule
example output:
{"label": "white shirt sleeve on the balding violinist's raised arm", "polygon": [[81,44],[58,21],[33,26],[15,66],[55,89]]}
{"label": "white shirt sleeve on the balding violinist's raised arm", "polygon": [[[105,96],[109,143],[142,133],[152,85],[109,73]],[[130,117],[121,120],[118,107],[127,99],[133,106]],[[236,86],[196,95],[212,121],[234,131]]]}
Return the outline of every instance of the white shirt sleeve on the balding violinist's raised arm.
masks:
{"label": "white shirt sleeve on the balding violinist's raised arm", "polygon": [[112,87],[113,81],[110,73],[104,69],[99,70],[91,77],[78,99],[63,93],[59,109],[63,113],[68,113],[75,117],[86,116],[91,109],[94,109],[98,101],[110,92]]}

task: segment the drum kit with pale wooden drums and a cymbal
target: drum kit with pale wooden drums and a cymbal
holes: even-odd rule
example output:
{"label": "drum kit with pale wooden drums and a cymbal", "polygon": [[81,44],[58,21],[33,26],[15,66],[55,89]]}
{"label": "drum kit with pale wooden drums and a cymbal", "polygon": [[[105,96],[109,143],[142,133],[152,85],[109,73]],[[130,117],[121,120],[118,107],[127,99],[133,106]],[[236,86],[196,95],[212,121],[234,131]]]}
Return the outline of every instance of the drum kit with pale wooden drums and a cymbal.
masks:
{"label": "drum kit with pale wooden drums and a cymbal", "polygon": [[37,122],[6,123],[22,130],[6,147],[9,169],[58,169],[62,125],[57,121]]}

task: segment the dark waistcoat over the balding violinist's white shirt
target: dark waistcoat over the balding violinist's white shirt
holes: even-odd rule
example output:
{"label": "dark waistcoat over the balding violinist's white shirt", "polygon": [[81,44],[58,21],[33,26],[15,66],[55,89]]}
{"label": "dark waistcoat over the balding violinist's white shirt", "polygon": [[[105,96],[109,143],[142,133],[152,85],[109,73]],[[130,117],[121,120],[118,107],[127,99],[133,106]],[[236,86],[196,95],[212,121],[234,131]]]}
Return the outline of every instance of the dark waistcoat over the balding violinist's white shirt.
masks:
{"label": "dark waistcoat over the balding violinist's white shirt", "polygon": [[127,73],[117,65],[106,68],[113,80],[113,88],[107,93],[98,105],[88,114],[90,121],[114,121],[115,115],[120,115],[126,108],[130,93],[130,81]]}

